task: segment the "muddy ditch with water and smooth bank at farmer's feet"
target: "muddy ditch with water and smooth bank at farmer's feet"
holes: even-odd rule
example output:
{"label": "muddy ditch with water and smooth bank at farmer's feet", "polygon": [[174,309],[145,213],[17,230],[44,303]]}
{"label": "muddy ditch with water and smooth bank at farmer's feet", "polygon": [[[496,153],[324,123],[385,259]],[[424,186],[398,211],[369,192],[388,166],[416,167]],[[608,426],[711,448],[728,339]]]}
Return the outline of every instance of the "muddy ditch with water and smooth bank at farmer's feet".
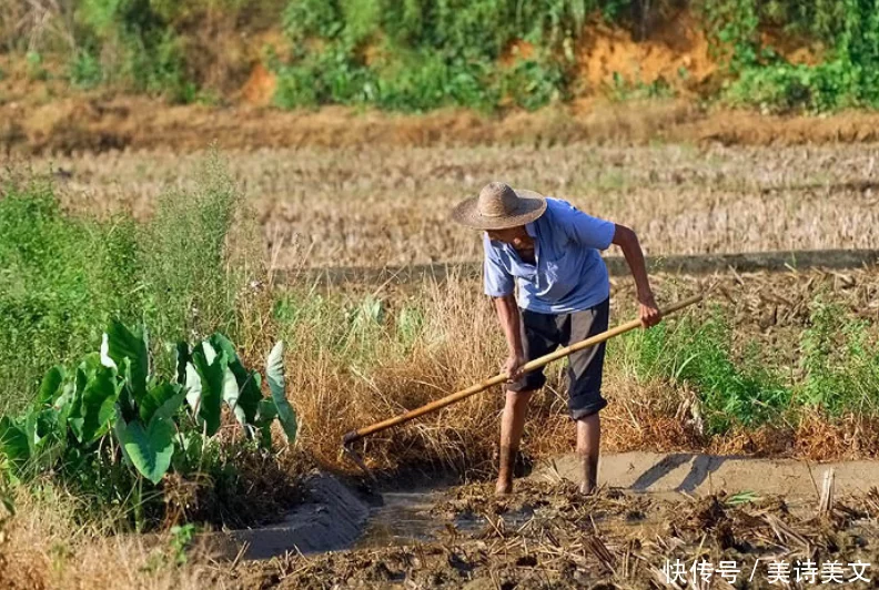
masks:
{"label": "muddy ditch with water and smooth bank at farmer's feet", "polygon": [[[522,535],[537,522],[557,518],[559,502],[566,507],[563,512],[588,508],[586,525],[579,522],[583,537],[607,532],[636,539],[663,535],[670,516],[705,501],[726,502],[727,508],[752,505],[761,515],[767,502],[775,502],[775,509],[784,507],[786,518],[804,523],[821,510],[833,513],[865,498],[879,500],[876,489],[871,490],[879,481],[876,460],[814,464],[691,452],[607,454],[600,464],[602,489],[594,498],[578,497],[575,474],[574,456],[544,461],[518,480],[517,491],[505,499],[493,497],[491,487],[482,484],[407,486],[397,481],[381,492],[365,492],[335,476],[315,474],[306,484],[311,501],[291,511],[283,522],[203,535],[200,546],[235,561],[400,551],[442,546],[449,538]],[[825,489],[828,486],[830,491]],[[830,508],[821,508],[827,502]],[[615,508],[608,509],[608,503]]]}

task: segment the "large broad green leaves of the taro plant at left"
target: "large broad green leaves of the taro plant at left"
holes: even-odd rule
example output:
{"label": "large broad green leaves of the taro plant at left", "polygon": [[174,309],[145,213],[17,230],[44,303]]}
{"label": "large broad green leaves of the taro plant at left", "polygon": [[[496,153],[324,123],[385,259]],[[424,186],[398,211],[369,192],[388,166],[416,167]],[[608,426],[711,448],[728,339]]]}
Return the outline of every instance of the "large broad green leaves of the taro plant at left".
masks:
{"label": "large broad green leaves of the taro plant at left", "polygon": [[0,418],[0,461],[7,470],[21,478],[49,469],[63,472],[83,461],[112,462],[114,455],[102,452],[110,446],[137,474],[158,484],[193,435],[218,433],[223,404],[245,436],[263,447],[271,446],[275,418],[287,441],[295,440],[282,343],[269,355],[271,395],[265,398],[260,374],[244,367],[221,334],[192,348],[178,344],[172,379],[153,373],[149,350],[145,329],[112,322],[100,353],[88,355],[72,372],[50,369],[23,416]]}

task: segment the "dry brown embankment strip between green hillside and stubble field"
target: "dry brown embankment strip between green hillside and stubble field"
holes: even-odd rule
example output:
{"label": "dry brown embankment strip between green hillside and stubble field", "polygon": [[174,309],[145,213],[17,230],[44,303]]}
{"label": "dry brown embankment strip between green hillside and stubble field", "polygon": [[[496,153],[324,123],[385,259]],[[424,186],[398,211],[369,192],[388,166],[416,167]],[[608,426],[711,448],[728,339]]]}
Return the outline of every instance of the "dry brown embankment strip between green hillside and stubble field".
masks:
{"label": "dry brown embankment strip between green hillside and stubble field", "polygon": [[568,146],[839,145],[879,141],[879,115],[847,111],[822,118],[703,110],[679,100],[613,103],[585,109],[487,116],[445,110],[421,115],[343,106],[284,112],[256,106],[166,105],[145,98],[71,98],[28,105],[0,103],[0,152],[65,157],[115,151]]}

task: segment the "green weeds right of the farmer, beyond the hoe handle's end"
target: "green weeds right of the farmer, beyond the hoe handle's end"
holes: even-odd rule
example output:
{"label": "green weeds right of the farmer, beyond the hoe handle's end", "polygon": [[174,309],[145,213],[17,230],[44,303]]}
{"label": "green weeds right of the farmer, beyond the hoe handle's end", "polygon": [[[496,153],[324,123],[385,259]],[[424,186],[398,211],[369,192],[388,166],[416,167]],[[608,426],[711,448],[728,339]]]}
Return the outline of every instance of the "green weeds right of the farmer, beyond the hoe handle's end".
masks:
{"label": "green weeds right of the farmer, beyond the hoe handle's end", "polygon": [[816,410],[831,418],[879,415],[877,342],[872,324],[818,298],[801,334],[796,377],[782,378],[789,369],[761,356],[754,342],[734,354],[732,333],[719,309],[709,317],[686,316],[629,333],[612,350],[639,379],[693,389],[706,431],[721,434],[734,425],[756,427],[778,418],[795,423]]}

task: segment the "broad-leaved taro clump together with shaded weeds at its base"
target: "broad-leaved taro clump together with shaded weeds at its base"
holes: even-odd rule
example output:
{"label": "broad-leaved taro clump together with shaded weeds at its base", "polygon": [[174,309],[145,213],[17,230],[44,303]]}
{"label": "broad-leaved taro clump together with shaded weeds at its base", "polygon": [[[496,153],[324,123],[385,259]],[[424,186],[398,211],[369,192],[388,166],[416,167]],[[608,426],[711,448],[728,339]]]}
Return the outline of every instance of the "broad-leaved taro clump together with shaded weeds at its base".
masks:
{"label": "broad-leaved taro clump together with shaded weeds at its base", "polygon": [[[95,515],[132,522],[137,530],[178,502],[170,475],[193,480],[190,497],[208,480],[216,500],[206,503],[220,510],[222,521],[249,520],[251,510],[234,509],[242,480],[235,459],[257,446],[270,451],[275,419],[289,444],[296,437],[283,346],[279,343],[266,362],[269,397],[261,374],[244,367],[224,336],[175,348],[169,378],[154,370],[145,329],[111,322],[100,353],[75,367],[51,368],[24,414],[0,416],[0,477],[39,486],[51,474],[81,499],[83,520]],[[218,440],[223,406],[251,444]],[[233,507],[231,513],[225,506]]]}

